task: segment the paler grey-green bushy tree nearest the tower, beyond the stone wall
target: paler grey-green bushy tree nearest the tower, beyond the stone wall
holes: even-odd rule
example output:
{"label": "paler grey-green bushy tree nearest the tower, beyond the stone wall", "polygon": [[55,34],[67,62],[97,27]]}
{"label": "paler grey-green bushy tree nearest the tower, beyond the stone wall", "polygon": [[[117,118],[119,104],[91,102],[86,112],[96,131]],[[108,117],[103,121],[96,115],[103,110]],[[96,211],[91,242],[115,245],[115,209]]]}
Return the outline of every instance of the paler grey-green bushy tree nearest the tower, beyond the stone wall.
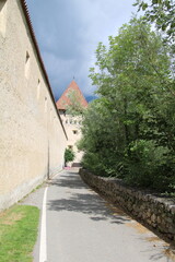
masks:
{"label": "paler grey-green bushy tree nearest the tower, beyond the stone wall", "polygon": [[[105,98],[93,100],[84,115],[83,138],[79,148],[84,151],[83,166],[100,176],[114,176],[119,167],[116,158],[124,151],[118,120],[107,108]],[[116,133],[118,135],[116,135]]]}

